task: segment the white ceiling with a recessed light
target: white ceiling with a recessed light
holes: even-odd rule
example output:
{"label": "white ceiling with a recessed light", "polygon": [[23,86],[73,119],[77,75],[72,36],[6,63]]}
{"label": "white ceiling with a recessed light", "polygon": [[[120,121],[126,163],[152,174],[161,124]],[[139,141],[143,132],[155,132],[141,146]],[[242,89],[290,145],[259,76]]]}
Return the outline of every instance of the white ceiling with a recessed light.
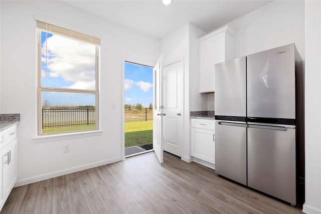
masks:
{"label": "white ceiling with a recessed light", "polygon": [[209,33],[272,1],[66,1],[82,11],[162,39],[187,23]]}

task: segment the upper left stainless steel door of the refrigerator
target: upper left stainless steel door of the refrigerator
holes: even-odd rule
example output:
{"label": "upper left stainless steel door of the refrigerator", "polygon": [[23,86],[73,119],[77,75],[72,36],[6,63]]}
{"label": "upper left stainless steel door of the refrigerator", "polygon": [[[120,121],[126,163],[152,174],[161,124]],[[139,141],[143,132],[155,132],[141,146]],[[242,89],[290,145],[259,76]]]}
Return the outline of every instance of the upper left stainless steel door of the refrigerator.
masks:
{"label": "upper left stainless steel door of the refrigerator", "polygon": [[215,65],[215,115],[219,120],[245,121],[246,57]]}

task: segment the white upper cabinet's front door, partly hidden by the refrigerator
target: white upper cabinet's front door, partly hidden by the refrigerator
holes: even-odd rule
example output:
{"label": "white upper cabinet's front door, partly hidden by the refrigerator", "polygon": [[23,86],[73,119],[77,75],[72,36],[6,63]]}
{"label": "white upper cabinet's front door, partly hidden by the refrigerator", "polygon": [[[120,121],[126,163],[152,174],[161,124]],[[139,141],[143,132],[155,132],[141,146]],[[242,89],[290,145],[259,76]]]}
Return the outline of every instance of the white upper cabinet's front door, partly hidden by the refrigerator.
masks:
{"label": "white upper cabinet's front door, partly hidden by the refrigerator", "polygon": [[215,64],[225,60],[225,33],[200,42],[200,92],[215,91]]}

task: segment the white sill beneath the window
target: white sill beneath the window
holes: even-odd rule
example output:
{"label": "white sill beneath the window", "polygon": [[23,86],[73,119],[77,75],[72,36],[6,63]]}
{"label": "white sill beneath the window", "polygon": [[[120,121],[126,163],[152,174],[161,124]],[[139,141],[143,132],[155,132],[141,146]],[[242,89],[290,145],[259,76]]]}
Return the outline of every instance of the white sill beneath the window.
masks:
{"label": "white sill beneath the window", "polygon": [[54,140],[72,139],[72,138],[78,138],[78,137],[89,137],[89,136],[95,136],[95,135],[101,135],[101,134],[102,134],[102,130],[61,133],[61,134],[44,134],[44,135],[38,135],[32,138],[32,140],[35,143],[41,143],[41,142],[48,142],[48,141],[54,141]]}

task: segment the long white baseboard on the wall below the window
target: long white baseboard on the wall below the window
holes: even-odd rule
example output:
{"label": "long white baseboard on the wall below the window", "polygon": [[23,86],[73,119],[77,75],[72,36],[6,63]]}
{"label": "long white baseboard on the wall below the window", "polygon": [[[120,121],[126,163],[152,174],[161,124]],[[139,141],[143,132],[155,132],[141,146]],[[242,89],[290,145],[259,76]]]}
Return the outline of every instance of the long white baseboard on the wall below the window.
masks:
{"label": "long white baseboard on the wall below the window", "polygon": [[53,178],[53,177],[57,177],[57,176],[61,176],[61,175],[65,175],[65,174],[69,174],[69,173],[73,173],[73,172],[77,172],[77,171],[81,171],[81,170],[85,170],[85,169],[94,168],[97,166],[101,166],[101,165],[105,165],[105,164],[109,164],[109,163],[113,163],[113,162],[117,162],[117,161],[121,161],[121,160],[122,160],[122,157],[117,157],[117,158],[102,160],[102,161],[89,163],[89,164],[85,164],[85,165],[81,165],[81,166],[76,166],[76,167],[72,167],[69,169],[63,169],[63,170],[59,170],[59,171],[55,171],[55,172],[50,172],[47,174],[37,175],[34,177],[20,179],[20,180],[17,180],[15,187],[26,185],[29,183],[38,182],[41,180],[46,180],[49,178]]}

